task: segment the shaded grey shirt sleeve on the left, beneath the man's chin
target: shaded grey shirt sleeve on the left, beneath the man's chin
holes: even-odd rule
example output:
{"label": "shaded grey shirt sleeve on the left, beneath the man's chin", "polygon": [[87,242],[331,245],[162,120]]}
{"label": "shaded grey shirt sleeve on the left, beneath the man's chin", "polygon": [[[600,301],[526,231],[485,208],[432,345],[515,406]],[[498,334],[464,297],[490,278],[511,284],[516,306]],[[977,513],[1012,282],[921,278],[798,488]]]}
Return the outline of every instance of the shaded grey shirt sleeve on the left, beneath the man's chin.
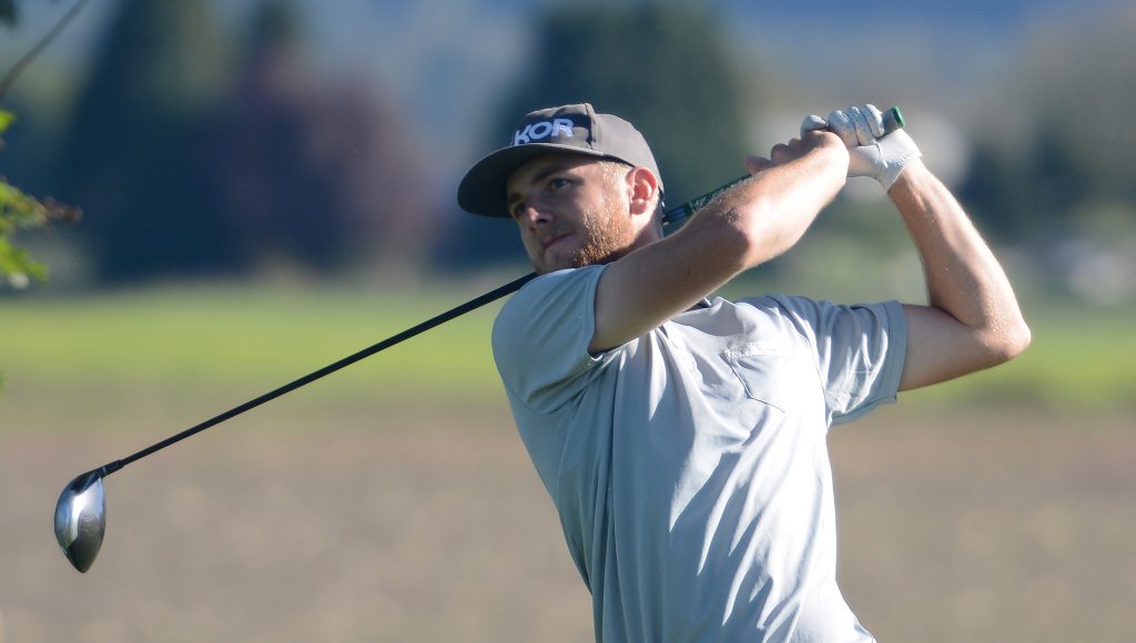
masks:
{"label": "shaded grey shirt sleeve on the left, beneath the man's chin", "polygon": [[599,356],[587,351],[603,269],[587,266],[542,275],[515,294],[493,323],[498,373],[510,396],[529,410],[560,410],[618,350]]}

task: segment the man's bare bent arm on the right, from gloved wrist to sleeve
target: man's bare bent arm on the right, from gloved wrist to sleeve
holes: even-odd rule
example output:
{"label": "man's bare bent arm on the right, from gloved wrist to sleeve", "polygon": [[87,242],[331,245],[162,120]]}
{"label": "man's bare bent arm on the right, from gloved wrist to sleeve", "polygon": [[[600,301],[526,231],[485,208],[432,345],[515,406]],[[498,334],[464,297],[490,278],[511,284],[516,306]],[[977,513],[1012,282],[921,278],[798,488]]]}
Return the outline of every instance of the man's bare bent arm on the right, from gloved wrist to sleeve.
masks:
{"label": "man's bare bent arm on the right, from gloved wrist to sleeve", "polygon": [[919,250],[928,306],[904,306],[908,349],[900,390],[1004,362],[1029,345],[1029,327],[997,259],[950,191],[908,161],[888,190]]}

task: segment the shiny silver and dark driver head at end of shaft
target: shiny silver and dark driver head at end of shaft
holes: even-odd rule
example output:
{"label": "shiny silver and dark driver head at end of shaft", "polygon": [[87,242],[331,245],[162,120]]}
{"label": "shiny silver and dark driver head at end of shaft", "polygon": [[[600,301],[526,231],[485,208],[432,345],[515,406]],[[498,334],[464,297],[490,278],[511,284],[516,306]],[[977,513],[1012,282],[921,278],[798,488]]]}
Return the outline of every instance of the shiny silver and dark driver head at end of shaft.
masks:
{"label": "shiny silver and dark driver head at end of shaft", "polygon": [[107,498],[102,491],[102,473],[87,471],[76,476],[56,503],[56,540],[67,560],[85,573],[94,563],[107,531]]}

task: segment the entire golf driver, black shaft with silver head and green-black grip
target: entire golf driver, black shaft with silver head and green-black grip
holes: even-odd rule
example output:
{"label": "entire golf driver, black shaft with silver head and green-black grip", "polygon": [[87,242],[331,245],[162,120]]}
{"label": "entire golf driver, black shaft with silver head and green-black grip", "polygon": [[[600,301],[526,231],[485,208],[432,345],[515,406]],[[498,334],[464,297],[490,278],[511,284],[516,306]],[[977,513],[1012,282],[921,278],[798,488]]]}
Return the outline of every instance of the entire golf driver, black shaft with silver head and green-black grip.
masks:
{"label": "entire golf driver, black shaft with silver head and green-black grip", "polygon": [[[903,127],[903,116],[900,114],[899,108],[893,107],[885,112],[884,128],[885,132],[891,133],[900,127]],[[682,224],[696,210],[744,178],[749,178],[749,176],[743,176],[732,181],[730,183],[708,192],[702,197],[693,199],[671,210],[667,210],[662,217],[665,233],[674,232],[680,227]],[[379,351],[386,350],[394,344],[401,343],[456,317],[460,317],[466,312],[476,310],[486,303],[491,303],[511,294],[520,290],[521,286],[535,277],[536,274],[531,273],[524,277],[513,279],[496,290],[490,291],[478,298],[467,301],[466,303],[451,308],[450,310],[432,317],[417,326],[412,326],[359,352],[309,373],[308,375],[269,391],[259,398],[249,400],[243,404],[234,407],[220,415],[202,421],[201,424],[167,437],[166,440],[148,446],[132,456],[108,462],[97,469],[75,476],[75,478],[67,483],[67,486],[64,487],[62,493],[59,494],[59,501],[56,502],[56,540],[59,542],[59,546],[62,549],[64,556],[67,557],[67,560],[69,560],[80,573],[86,573],[86,570],[94,563],[94,559],[99,554],[99,549],[102,546],[102,538],[107,531],[107,498],[103,491],[102,478],[122,469],[126,465],[134,462],[135,460],[145,458],[147,456],[181,442],[191,435],[200,433],[211,426],[216,426],[227,419],[234,418],[248,410],[264,404],[265,402],[275,400],[285,393],[310,384],[326,375],[331,375],[341,368],[348,367]]]}

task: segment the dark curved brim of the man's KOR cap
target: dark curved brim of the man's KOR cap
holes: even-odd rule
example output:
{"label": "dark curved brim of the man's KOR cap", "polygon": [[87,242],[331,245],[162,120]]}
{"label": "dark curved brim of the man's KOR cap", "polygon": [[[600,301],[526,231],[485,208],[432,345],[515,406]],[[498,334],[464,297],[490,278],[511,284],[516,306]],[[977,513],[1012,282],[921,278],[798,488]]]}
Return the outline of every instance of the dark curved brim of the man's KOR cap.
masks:
{"label": "dark curved brim of the man's KOR cap", "polygon": [[502,148],[469,168],[461,183],[458,184],[458,206],[475,215],[509,218],[506,182],[509,181],[512,173],[517,172],[518,167],[546,155],[608,157],[603,152],[587,148],[554,143],[526,143]]}

